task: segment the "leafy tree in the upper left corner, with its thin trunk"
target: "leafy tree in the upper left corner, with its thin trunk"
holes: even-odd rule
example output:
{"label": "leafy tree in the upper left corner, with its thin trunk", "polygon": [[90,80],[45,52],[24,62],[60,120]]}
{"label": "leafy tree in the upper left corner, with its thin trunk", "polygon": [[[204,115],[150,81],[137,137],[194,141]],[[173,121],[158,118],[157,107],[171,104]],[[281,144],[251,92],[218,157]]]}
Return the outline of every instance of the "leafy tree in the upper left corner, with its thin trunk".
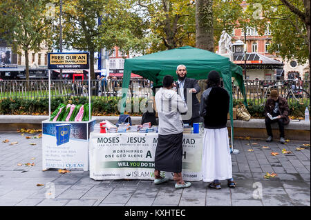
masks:
{"label": "leafy tree in the upper left corner, with its thin trunk", "polygon": [[[0,34],[18,54],[41,50],[41,43],[52,44],[50,29],[52,20],[46,16],[48,0],[0,1]],[[26,79],[29,80],[28,62]]]}

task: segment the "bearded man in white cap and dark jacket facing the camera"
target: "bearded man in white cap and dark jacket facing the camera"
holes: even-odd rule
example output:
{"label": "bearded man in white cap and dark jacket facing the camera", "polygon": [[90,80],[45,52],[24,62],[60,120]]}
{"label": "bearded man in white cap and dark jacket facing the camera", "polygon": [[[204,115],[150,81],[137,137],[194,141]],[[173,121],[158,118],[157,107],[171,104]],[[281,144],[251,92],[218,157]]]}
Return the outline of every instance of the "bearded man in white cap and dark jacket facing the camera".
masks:
{"label": "bearded man in white cap and dark jacket facing the camera", "polygon": [[[178,81],[176,82],[177,93],[180,94],[182,99],[187,103],[189,117],[191,119],[183,120],[183,123],[189,123],[189,126],[193,126],[194,123],[201,122],[200,117],[200,103],[196,94],[200,92],[201,88],[198,86],[198,81],[196,79],[187,78],[187,68],[185,65],[179,65],[176,70],[178,76]],[[187,101],[187,94],[190,93],[192,99]],[[188,94],[189,97],[189,94]],[[192,111],[191,111],[192,110]],[[189,118],[188,117],[188,118]]]}

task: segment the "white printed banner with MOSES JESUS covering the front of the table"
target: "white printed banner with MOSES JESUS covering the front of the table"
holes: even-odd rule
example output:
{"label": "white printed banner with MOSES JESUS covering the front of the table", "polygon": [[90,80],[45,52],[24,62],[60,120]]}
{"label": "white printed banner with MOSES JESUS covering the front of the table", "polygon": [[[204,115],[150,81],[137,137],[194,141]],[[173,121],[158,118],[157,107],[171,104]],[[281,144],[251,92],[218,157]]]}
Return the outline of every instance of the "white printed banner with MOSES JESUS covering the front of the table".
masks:
{"label": "white printed banner with MOSES JESUS covering the front of the table", "polygon": [[[90,177],[102,179],[154,179],[157,133],[91,132]],[[184,134],[182,174],[186,181],[202,180],[202,136]],[[170,179],[173,174],[164,172]]]}

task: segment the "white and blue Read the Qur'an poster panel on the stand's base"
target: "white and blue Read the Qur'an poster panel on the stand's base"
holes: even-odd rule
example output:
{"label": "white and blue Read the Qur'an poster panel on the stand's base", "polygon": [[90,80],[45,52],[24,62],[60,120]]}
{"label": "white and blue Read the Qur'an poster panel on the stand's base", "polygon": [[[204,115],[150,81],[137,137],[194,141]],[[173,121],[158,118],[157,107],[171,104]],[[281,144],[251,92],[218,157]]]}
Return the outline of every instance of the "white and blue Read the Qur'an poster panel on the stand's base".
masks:
{"label": "white and blue Read the Qur'an poster panel on the stand's base", "polygon": [[88,141],[93,121],[42,122],[42,167],[88,171]]}

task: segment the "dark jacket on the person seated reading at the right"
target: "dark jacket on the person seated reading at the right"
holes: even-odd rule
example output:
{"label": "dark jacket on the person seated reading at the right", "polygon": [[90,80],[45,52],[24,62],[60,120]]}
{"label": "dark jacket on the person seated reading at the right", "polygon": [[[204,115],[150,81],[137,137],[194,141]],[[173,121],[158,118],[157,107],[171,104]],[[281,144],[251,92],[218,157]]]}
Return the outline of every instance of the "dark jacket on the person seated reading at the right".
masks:
{"label": "dark jacket on the person seated reading at the right", "polygon": [[[265,103],[265,117],[267,117],[267,113],[272,114],[274,109],[274,100],[267,99]],[[290,108],[288,108],[288,101],[282,97],[279,97],[279,114],[284,121],[284,124],[287,125],[290,123],[290,119],[288,118],[288,113],[290,112]]]}

